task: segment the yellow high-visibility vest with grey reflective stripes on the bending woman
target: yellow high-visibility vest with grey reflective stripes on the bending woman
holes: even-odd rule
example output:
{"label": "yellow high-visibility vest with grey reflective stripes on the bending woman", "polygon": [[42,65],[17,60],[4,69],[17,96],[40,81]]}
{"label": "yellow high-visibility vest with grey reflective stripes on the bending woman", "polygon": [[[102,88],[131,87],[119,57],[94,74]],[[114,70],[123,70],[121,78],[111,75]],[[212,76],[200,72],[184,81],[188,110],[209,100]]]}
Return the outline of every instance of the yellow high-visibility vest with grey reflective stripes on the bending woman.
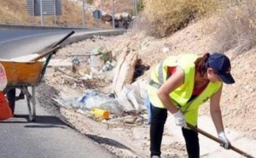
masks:
{"label": "yellow high-visibility vest with grey reflective stripes on the bending woman", "polygon": [[185,120],[194,126],[197,124],[199,106],[205,103],[207,99],[210,99],[214,93],[217,93],[222,85],[222,82],[209,82],[201,94],[189,101],[195,83],[195,60],[198,58],[199,56],[196,54],[179,54],[165,59],[162,63],[154,67],[147,86],[148,99],[151,104],[155,107],[166,108],[157,96],[157,91],[169,77],[168,67],[178,66],[183,69],[183,85],[177,87],[177,89],[170,93],[170,98],[173,104],[183,111]]}

